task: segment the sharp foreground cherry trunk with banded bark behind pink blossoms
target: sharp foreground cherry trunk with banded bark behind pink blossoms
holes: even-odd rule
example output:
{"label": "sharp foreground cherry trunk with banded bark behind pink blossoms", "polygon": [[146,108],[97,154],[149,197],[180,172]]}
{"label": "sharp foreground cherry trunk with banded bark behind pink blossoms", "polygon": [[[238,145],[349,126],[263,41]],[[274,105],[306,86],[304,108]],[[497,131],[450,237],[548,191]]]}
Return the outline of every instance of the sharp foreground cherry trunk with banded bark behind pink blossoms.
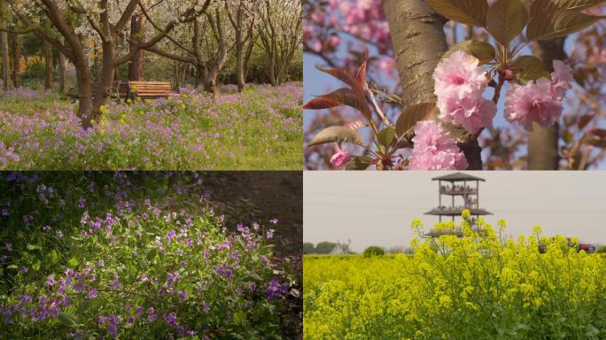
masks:
{"label": "sharp foreground cherry trunk with banded bark behind pink blossoms", "polygon": [[[392,33],[400,84],[404,89],[403,106],[435,102],[432,74],[448,49],[444,34],[447,20],[424,0],[382,0],[381,3]],[[482,149],[478,140],[471,138],[469,142],[459,143],[459,147],[465,153],[469,169],[481,170]]]}

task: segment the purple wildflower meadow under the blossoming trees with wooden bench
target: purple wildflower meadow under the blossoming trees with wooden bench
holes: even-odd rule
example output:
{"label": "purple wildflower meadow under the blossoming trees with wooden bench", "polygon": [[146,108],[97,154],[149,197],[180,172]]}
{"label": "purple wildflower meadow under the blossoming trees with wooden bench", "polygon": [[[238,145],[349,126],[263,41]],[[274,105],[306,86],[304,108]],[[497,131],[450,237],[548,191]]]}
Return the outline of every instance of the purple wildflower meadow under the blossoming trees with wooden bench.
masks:
{"label": "purple wildflower meadow under the blossoming trees with wooden bench", "polygon": [[0,170],[300,169],[302,86],[108,101],[94,128],[50,92],[0,92]]}

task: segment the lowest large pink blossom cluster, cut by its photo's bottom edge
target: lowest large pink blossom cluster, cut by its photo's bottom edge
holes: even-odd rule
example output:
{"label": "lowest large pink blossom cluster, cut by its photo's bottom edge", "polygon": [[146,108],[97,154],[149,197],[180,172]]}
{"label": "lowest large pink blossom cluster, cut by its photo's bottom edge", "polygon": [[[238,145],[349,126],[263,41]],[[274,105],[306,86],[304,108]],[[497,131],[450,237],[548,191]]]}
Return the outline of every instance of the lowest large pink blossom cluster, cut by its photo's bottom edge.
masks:
{"label": "lowest large pink blossom cluster, cut by its photo's bottom edge", "polygon": [[464,170],[468,163],[455,139],[434,120],[416,124],[410,170]]}

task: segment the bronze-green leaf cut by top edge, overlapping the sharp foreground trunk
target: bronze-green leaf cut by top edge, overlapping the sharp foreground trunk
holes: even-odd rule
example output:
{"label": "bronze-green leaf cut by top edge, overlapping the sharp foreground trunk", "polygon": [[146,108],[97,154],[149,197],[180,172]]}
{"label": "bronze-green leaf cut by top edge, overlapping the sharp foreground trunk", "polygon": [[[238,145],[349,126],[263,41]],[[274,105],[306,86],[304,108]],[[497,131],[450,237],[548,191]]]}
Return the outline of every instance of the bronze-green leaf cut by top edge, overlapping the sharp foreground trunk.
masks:
{"label": "bronze-green leaf cut by top edge, overlapping the sharp foreground trunk", "polygon": [[486,26],[486,0],[427,0],[427,3],[447,19],[471,26]]}

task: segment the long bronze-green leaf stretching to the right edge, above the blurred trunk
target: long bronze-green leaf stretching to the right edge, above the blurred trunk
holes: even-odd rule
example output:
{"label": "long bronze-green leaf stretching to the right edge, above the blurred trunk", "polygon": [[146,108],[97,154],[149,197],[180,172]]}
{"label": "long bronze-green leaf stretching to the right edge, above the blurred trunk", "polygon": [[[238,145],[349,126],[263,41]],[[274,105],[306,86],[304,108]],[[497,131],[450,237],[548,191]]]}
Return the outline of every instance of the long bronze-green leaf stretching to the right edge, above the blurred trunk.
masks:
{"label": "long bronze-green leaf stretching to the right edge, above the blurred trunk", "polygon": [[531,19],[526,28],[526,38],[531,40],[551,40],[571,35],[592,26],[604,16],[587,15],[575,10],[549,10],[540,12]]}

